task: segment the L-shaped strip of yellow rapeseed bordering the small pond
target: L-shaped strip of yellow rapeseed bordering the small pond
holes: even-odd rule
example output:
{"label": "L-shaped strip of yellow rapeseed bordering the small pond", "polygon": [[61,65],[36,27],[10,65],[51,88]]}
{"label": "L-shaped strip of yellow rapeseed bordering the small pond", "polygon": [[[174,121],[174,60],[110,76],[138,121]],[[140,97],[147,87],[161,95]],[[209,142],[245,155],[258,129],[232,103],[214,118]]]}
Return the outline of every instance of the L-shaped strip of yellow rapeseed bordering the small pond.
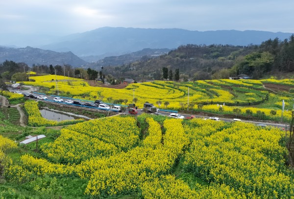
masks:
{"label": "L-shaped strip of yellow rapeseed bordering the small pond", "polygon": [[41,126],[62,126],[75,124],[78,122],[83,122],[84,119],[76,119],[76,120],[63,120],[60,122],[49,120],[42,117],[41,112],[38,108],[38,102],[36,101],[26,101],[25,102],[25,112],[28,116],[28,126],[32,127],[41,127]]}

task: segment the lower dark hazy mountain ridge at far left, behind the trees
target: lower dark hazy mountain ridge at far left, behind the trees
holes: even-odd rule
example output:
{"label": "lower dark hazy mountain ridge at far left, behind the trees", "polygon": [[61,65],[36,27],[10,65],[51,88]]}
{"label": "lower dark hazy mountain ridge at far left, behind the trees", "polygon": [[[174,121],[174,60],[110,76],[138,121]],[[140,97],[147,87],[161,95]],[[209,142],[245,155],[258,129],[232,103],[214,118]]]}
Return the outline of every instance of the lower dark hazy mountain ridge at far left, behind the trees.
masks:
{"label": "lower dark hazy mountain ridge at far left, behind the trees", "polygon": [[42,50],[40,48],[10,48],[0,47],[0,63],[5,60],[24,62],[28,66],[35,65],[65,65],[81,66],[87,62],[74,55],[72,52],[54,52],[51,50]]}

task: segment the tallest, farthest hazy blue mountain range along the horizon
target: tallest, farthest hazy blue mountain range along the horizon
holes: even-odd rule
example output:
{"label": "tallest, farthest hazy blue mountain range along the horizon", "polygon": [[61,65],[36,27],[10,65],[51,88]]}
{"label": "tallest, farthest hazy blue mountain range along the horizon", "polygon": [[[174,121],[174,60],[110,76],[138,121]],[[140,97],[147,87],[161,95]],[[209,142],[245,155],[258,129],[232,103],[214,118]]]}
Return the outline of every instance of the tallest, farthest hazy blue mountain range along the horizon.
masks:
{"label": "tallest, farthest hazy blue mountain range along the horizon", "polygon": [[[59,38],[58,41],[40,48],[57,52],[71,51],[79,57],[119,56],[144,48],[177,48],[182,44],[261,44],[268,39],[288,39],[293,33],[266,31],[190,31],[184,29],[152,29],[101,27],[84,33]],[[98,60],[97,59],[97,60]],[[86,60],[86,59],[85,59]]]}

